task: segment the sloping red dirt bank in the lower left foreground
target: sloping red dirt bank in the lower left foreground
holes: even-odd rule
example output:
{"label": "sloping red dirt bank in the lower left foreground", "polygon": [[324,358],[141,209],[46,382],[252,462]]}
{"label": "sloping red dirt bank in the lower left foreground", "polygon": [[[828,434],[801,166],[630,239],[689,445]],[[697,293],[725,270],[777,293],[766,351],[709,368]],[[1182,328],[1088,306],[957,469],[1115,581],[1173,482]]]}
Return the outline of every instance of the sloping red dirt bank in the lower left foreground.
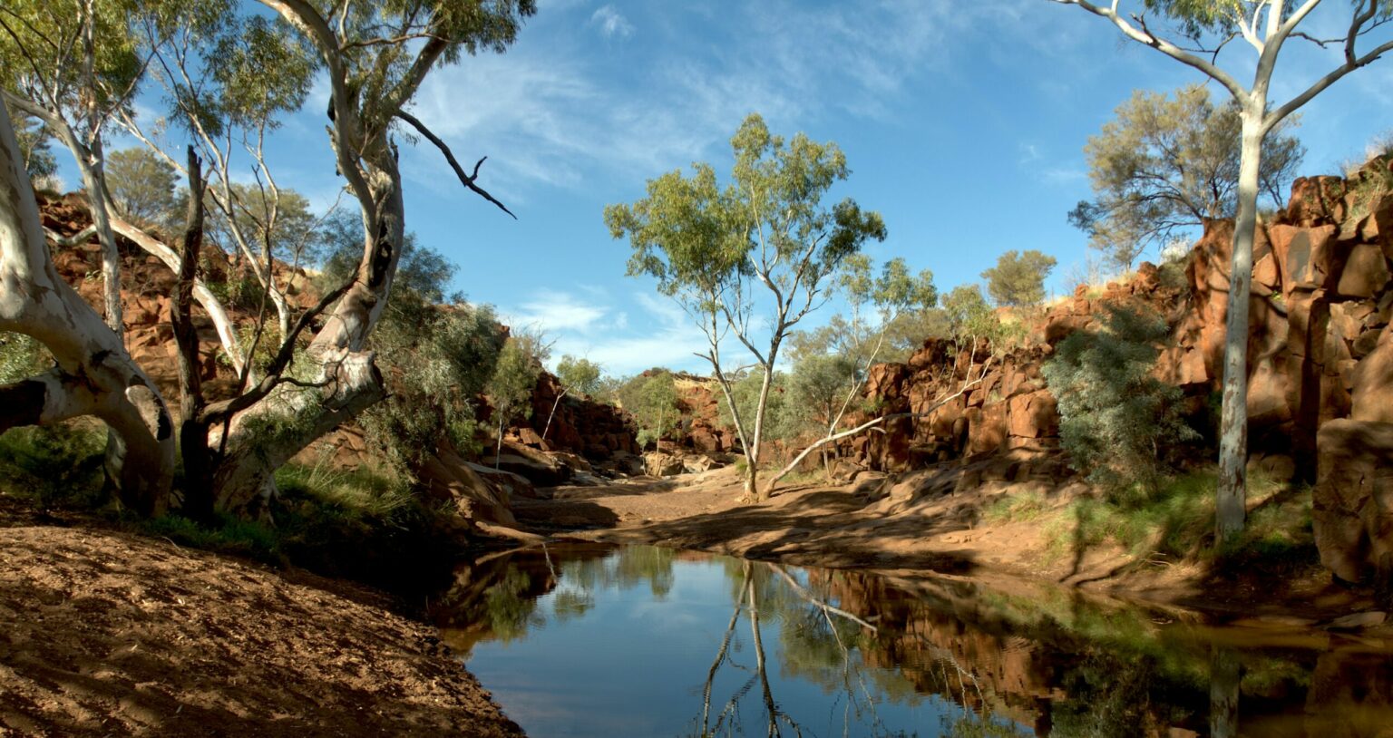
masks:
{"label": "sloping red dirt bank in the lower left foreground", "polygon": [[0,496],[0,735],[522,735],[380,595],[70,524]]}

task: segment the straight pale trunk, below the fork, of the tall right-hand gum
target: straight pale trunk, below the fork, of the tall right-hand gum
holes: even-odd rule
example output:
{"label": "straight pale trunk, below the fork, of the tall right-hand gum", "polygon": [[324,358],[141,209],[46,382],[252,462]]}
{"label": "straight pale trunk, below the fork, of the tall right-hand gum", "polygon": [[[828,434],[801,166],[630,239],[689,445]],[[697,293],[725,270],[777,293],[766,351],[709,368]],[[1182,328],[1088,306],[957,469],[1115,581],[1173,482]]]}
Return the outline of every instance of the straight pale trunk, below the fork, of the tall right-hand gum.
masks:
{"label": "straight pale trunk, below the fork, of the tall right-hand gum", "polygon": [[[1254,110],[1255,109],[1255,110]],[[1252,242],[1258,230],[1258,171],[1262,164],[1263,106],[1243,113],[1238,214],[1229,267],[1224,323],[1223,404],[1219,422],[1219,489],[1215,535],[1219,542],[1243,531],[1248,462],[1248,297],[1252,292]]]}

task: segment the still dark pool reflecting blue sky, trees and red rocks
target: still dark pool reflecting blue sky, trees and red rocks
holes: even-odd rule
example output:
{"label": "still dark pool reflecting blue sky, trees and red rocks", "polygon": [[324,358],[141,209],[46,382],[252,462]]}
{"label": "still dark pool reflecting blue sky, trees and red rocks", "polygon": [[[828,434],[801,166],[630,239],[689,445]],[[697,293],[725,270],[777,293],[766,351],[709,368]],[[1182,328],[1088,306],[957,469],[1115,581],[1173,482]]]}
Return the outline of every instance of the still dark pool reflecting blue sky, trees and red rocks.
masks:
{"label": "still dark pool reflecting blue sky, trees and red rocks", "polygon": [[496,554],[433,602],[528,735],[1393,737],[1393,647],[655,547]]}

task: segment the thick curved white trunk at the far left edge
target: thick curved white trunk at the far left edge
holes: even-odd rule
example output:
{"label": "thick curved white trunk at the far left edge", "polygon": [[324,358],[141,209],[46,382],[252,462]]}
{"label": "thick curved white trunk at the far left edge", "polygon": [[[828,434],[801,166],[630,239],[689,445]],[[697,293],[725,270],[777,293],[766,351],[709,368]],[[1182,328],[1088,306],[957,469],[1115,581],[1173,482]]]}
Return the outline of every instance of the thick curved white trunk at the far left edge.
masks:
{"label": "thick curved white trunk at the far left edge", "polygon": [[0,330],[53,354],[45,375],[0,388],[0,429],[96,415],[111,429],[107,475],[127,507],[163,514],[174,478],[174,429],[159,388],[120,336],[64,283],[49,258],[10,114],[0,104]]}

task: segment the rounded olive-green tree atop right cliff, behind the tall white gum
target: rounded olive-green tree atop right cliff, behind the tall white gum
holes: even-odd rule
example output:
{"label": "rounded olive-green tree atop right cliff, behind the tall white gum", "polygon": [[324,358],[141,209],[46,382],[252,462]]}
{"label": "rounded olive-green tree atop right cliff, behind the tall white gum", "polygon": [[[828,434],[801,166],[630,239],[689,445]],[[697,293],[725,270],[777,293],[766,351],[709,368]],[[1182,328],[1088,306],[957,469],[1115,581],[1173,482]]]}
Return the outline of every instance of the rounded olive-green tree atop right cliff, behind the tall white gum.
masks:
{"label": "rounded olive-green tree atop right cliff, behind the tall white gum", "polygon": [[[1084,148],[1095,199],[1068,214],[1091,246],[1130,270],[1178,228],[1237,213],[1243,121],[1236,103],[1216,106],[1198,84],[1173,96],[1138,89],[1114,116]],[[1284,135],[1293,125],[1294,118],[1279,124],[1262,143],[1258,182],[1275,207],[1305,155],[1295,136]]]}

